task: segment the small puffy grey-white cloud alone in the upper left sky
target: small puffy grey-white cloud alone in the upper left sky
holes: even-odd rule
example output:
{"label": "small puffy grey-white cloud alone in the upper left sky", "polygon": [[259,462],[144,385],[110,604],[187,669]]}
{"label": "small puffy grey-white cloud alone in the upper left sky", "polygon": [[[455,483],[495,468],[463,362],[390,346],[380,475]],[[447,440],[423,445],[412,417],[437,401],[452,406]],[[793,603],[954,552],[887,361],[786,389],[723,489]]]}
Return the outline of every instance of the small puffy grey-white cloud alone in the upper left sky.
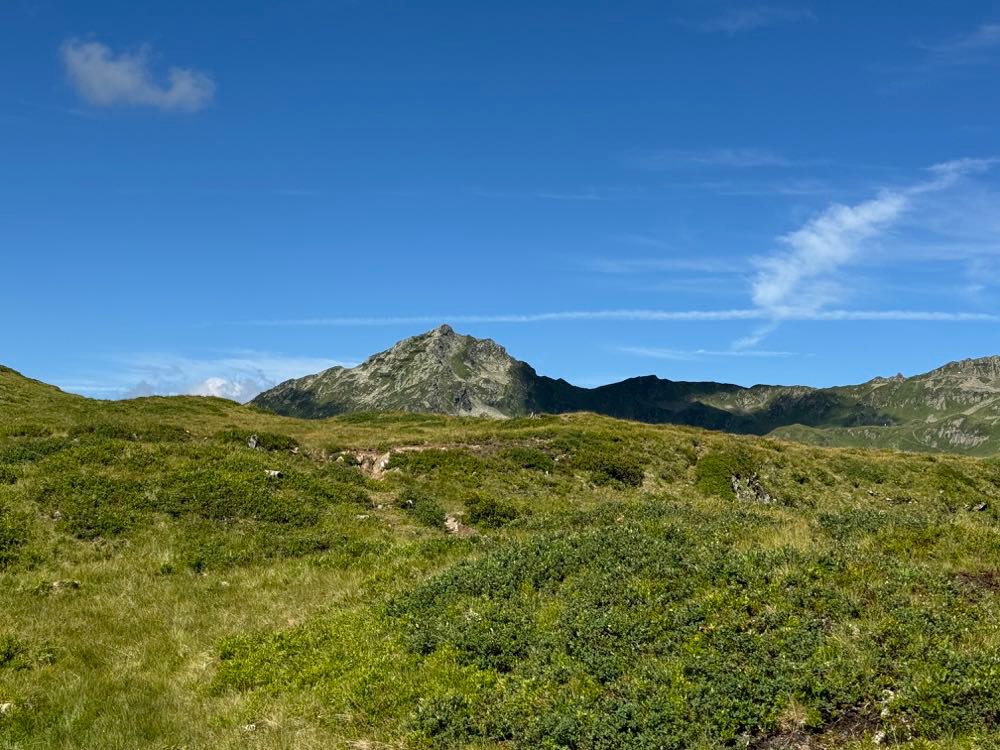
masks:
{"label": "small puffy grey-white cloud alone in the upper left sky", "polygon": [[215,81],[191,68],[170,67],[165,81],[158,81],[148,47],[116,55],[100,42],[70,39],[60,52],[73,88],[96,107],[133,105],[197,112],[215,96]]}

